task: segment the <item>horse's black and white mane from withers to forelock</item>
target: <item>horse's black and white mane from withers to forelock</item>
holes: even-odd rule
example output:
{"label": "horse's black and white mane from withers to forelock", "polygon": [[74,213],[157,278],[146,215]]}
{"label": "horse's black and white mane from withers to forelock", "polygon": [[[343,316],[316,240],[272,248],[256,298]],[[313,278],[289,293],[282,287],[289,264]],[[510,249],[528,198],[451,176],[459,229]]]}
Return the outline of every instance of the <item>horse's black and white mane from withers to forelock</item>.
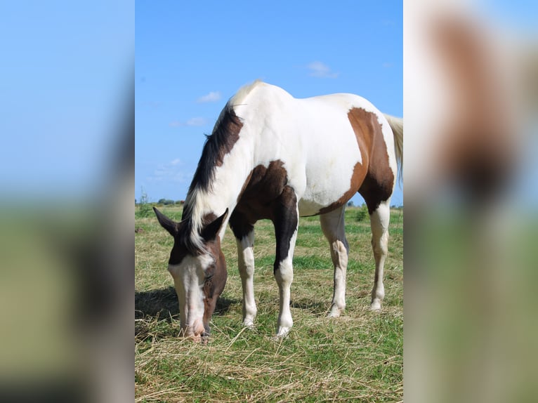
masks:
{"label": "horse's black and white mane from withers to forelock", "polygon": [[182,225],[179,230],[179,238],[183,239],[184,246],[193,255],[199,255],[205,250],[202,237],[199,235],[204,223],[202,222],[202,211],[200,211],[198,197],[212,190],[216,167],[223,164],[224,156],[232,150],[233,145],[239,139],[239,131],[243,124],[242,119],[235,114],[235,105],[243,103],[247,95],[261,84],[263,84],[262,81],[256,80],[242,86],[224,106],[211,136],[206,136],[202,157],[198,161],[195,175],[185,198],[183,216],[181,217]]}

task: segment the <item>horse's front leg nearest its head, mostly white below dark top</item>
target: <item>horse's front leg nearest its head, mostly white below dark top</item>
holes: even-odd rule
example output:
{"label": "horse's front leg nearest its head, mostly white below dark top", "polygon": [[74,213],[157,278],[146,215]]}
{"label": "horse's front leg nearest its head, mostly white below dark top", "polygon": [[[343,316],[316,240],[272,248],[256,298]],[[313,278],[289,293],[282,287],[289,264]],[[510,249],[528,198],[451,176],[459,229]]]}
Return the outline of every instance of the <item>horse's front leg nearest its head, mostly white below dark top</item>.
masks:
{"label": "horse's front leg nearest its head, mostly white below dark top", "polygon": [[258,313],[254,299],[254,225],[234,211],[230,227],[237,242],[237,263],[243,289],[243,325],[253,327]]}

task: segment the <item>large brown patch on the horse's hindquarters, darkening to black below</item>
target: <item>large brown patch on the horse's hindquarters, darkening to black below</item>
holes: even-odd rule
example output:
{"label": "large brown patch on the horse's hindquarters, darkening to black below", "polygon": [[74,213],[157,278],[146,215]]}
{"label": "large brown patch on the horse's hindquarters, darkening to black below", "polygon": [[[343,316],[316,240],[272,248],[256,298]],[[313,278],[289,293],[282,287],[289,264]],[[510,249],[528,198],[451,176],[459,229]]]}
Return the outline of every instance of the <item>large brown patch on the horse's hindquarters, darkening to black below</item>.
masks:
{"label": "large brown patch on the horse's hindquarters, darkening to black below", "polygon": [[388,164],[387,146],[377,115],[355,107],[348,112],[348,119],[362,154],[362,166],[367,168],[358,191],[372,214],[381,202],[391,197],[394,173]]}

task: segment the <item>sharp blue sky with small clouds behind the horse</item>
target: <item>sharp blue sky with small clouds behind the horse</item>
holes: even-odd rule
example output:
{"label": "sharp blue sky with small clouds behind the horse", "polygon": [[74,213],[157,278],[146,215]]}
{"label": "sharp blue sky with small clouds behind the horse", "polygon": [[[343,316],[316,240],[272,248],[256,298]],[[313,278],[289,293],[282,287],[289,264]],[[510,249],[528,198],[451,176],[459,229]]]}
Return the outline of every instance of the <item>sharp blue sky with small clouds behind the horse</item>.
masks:
{"label": "sharp blue sky with small clouds behind the horse", "polygon": [[136,199],[185,199],[204,133],[254,79],[401,117],[402,2],[136,1]]}

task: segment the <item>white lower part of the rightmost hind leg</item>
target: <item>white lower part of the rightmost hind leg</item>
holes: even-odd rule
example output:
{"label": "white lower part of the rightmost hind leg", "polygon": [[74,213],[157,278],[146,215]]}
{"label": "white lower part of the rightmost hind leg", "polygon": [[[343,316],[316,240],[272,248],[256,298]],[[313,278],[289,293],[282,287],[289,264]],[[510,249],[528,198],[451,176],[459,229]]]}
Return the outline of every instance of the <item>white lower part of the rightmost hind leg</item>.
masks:
{"label": "white lower part of the rightmost hind leg", "polygon": [[390,199],[381,202],[370,213],[370,227],[372,228],[372,249],[376,260],[376,274],[374,288],[372,289],[371,310],[381,310],[381,301],[385,296],[383,286],[383,267],[388,253],[388,222],[391,219]]}

